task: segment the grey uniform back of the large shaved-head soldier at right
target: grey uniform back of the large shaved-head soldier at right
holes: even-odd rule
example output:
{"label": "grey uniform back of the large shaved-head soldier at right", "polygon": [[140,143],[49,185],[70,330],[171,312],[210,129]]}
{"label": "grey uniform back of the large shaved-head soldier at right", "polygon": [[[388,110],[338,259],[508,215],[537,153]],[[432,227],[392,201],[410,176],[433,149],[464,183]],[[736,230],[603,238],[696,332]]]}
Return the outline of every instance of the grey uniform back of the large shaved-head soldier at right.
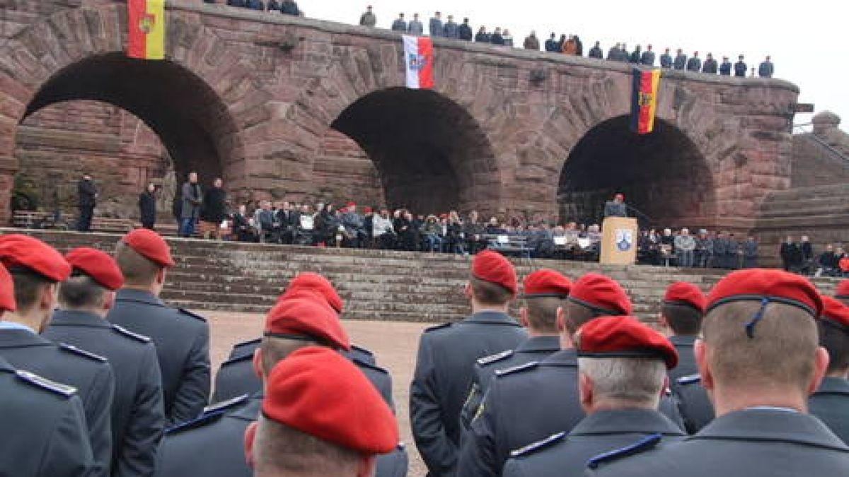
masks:
{"label": "grey uniform back of the large shaved-head soldier at right", "polygon": [[752,408],[715,419],[685,441],[602,463],[587,475],[775,477],[846,475],[849,447],[817,418]]}

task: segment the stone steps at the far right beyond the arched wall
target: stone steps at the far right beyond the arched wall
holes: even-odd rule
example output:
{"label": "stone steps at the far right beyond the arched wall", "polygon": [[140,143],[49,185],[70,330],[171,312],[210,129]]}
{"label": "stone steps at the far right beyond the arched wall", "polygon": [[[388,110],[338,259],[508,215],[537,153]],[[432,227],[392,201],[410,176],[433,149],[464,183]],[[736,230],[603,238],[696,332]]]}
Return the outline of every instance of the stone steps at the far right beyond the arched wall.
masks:
{"label": "stone steps at the far right beyond the arched wall", "polygon": [[761,205],[755,234],[763,266],[779,266],[779,244],[788,235],[796,240],[809,236],[815,253],[825,244],[849,247],[849,182],[770,194]]}

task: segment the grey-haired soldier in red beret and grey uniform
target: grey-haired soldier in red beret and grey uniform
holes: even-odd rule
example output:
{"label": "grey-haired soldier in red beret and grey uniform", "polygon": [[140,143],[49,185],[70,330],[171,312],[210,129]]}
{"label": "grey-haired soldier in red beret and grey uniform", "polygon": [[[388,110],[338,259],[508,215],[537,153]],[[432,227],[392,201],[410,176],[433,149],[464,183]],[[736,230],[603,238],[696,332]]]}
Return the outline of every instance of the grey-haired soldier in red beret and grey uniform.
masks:
{"label": "grey-haired soldier in red beret and grey uniform", "polygon": [[511,452],[503,477],[579,475],[604,452],[646,438],[666,445],[685,436],[657,412],[666,368],[678,359],[662,334],[633,317],[601,317],[581,329],[576,347],[587,417],[571,432]]}

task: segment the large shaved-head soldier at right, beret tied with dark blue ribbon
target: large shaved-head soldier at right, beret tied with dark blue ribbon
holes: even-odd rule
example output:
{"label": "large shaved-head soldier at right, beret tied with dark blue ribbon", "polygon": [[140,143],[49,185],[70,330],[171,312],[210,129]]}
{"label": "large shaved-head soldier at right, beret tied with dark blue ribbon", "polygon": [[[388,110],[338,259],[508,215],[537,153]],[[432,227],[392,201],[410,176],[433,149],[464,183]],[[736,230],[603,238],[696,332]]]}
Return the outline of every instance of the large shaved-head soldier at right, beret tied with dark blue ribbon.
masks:
{"label": "large shaved-head soldier at right, beret tied with dark blue ribbon", "polygon": [[695,345],[717,418],[673,446],[652,452],[638,443],[611,453],[586,475],[846,474],[849,447],[807,414],[808,394],[829,360],[818,346],[822,310],[817,289],[789,272],[751,269],[722,278]]}

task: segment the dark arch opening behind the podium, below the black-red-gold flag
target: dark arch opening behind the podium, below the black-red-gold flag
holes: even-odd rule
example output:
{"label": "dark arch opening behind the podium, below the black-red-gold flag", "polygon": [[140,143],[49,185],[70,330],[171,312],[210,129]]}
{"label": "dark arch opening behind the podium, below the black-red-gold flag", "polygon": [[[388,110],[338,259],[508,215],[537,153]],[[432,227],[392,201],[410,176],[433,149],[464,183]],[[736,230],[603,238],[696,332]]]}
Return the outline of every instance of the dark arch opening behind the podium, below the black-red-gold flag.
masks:
{"label": "dark arch opening behind the podium, below the black-red-gold flag", "polygon": [[604,203],[621,192],[643,214],[641,225],[711,225],[716,198],[711,170],[695,144],[676,126],[655,121],[638,135],[619,116],[593,127],[579,141],[560,174],[560,219],[600,223]]}

